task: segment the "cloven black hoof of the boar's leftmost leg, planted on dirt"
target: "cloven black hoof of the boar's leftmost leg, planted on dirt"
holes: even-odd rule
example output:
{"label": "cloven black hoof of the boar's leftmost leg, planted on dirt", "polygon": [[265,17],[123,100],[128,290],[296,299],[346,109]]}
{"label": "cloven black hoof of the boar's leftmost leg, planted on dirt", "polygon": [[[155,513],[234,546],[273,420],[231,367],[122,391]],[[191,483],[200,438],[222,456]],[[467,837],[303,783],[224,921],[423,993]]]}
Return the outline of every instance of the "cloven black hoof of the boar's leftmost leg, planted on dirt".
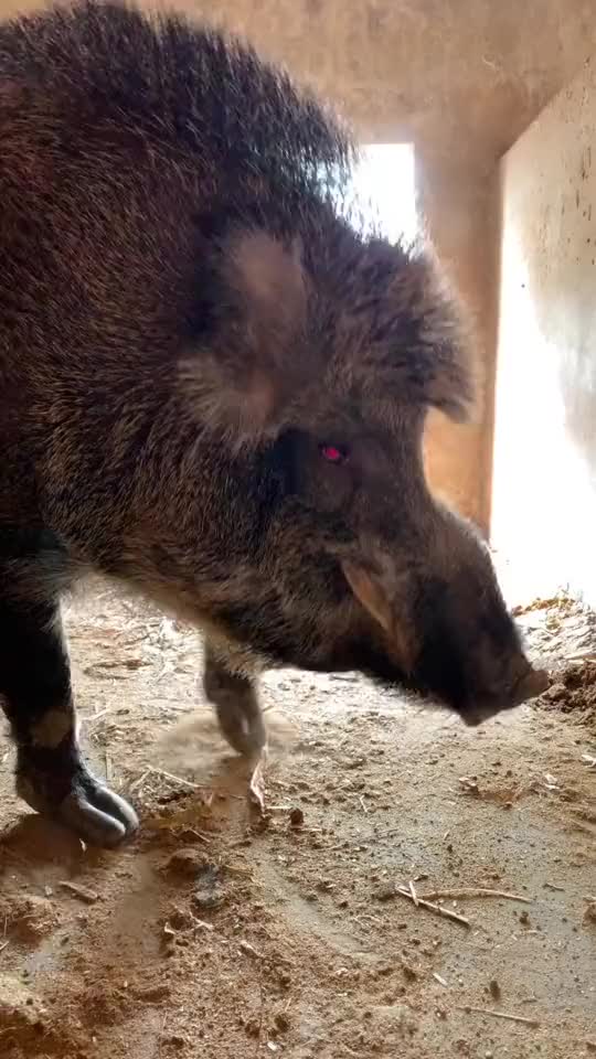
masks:
{"label": "cloven black hoof of the boar's leftmost leg, planted on dirt", "polygon": [[38,770],[20,769],[17,778],[17,790],[32,809],[68,827],[89,845],[113,848],[138,830],[135,810],[98,783],[84,766],[76,769],[67,793],[63,777],[60,793],[55,784],[53,777],[41,775]]}

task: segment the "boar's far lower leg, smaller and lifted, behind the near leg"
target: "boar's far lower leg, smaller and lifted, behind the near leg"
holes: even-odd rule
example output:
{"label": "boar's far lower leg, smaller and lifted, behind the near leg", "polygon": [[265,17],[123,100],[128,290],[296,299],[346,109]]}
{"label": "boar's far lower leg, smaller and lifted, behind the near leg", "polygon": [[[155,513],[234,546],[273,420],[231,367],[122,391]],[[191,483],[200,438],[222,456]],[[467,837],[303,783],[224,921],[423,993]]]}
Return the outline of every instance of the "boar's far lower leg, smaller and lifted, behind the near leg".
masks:
{"label": "boar's far lower leg, smaller and lifted, behind the near leg", "polygon": [[205,644],[205,695],[215,707],[222,734],[243,757],[255,757],[267,741],[254,683],[231,673],[221,655]]}

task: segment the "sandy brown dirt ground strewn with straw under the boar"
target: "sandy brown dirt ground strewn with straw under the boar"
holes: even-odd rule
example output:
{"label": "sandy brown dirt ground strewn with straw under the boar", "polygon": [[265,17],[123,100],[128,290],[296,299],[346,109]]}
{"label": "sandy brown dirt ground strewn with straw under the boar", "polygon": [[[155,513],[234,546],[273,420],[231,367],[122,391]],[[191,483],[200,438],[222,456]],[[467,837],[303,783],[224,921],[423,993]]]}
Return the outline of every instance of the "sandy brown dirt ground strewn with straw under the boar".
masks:
{"label": "sandy brown dirt ground strewn with straw under the boar", "polygon": [[3,1059],[596,1055],[596,617],[520,621],[555,684],[479,730],[269,676],[263,820],[195,635],[104,586],[73,603],[83,739],[142,827],[83,848],[0,741]]}

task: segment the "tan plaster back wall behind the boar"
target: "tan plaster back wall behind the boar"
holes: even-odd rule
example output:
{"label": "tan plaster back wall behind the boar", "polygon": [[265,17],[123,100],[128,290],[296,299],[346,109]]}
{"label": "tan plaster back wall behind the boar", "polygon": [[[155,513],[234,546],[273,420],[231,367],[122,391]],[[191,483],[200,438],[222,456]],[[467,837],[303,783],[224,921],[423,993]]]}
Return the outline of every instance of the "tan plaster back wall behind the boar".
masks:
{"label": "tan plaster back wall behind the boar", "polygon": [[[36,7],[0,0],[0,14]],[[153,4],[155,6],[155,4]],[[365,142],[412,141],[419,206],[478,323],[479,424],[432,420],[436,489],[488,524],[496,167],[596,44],[595,0],[174,0],[330,98]]]}

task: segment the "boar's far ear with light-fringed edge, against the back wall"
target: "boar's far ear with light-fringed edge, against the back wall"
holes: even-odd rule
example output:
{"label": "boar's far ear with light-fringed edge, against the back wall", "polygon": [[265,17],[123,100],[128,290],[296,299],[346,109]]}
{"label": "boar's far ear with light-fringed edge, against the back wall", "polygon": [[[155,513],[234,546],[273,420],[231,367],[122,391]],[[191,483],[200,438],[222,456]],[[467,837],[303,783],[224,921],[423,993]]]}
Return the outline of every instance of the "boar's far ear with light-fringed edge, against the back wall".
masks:
{"label": "boar's far ear with light-fringed edge, against the back wall", "polygon": [[476,404],[470,327],[429,252],[398,269],[391,300],[397,310],[394,366],[406,396],[468,421]]}

